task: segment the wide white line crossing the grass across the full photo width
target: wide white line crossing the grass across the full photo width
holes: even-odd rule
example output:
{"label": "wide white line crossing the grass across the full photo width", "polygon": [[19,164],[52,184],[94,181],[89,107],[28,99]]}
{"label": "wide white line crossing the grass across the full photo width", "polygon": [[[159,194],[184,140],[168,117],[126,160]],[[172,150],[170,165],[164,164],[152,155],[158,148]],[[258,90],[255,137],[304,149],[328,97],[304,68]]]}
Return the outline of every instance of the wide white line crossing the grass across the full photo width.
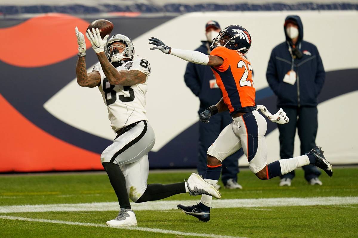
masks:
{"label": "wide white line crossing the grass across the full photo width", "polygon": [[[176,205],[193,205],[199,200],[152,201],[131,203],[132,209],[140,210],[171,210]],[[287,207],[314,205],[350,205],[358,204],[358,197],[309,197],[309,198],[258,198],[258,199],[220,199],[212,201],[212,208],[237,207]],[[118,202],[94,202],[75,204],[40,204],[0,206],[0,213],[10,212],[77,212],[77,211],[119,211]]]}

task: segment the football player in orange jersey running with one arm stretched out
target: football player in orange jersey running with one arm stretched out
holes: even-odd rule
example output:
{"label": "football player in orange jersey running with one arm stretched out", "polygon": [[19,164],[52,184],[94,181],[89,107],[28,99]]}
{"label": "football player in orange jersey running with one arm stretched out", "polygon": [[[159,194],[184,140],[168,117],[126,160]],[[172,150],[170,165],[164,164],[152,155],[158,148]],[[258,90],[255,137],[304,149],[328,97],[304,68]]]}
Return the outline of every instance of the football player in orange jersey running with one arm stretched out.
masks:
{"label": "football player in orange jersey running with one arm stretched out", "polygon": [[[211,116],[229,110],[233,119],[233,122],[224,128],[208,149],[208,165],[204,177],[206,182],[216,186],[220,177],[221,162],[241,147],[247,156],[250,170],[259,179],[281,176],[307,164],[314,164],[329,176],[333,175],[332,166],[324,158],[323,151],[318,146],[315,146],[306,155],[280,159],[267,164],[265,142],[267,123],[256,110],[252,67],[250,61],[244,56],[250,49],[251,36],[245,28],[231,25],[221,30],[212,41],[211,47],[214,49],[210,55],[198,51],[174,49],[154,37],[151,37],[148,43],[156,46],[151,50],[159,49],[166,54],[175,55],[195,64],[211,66],[217,85],[223,93],[223,98],[216,105],[210,106],[199,115],[202,122],[208,123]],[[263,108],[262,111],[266,115],[266,108],[259,107]],[[281,115],[276,113],[277,115],[273,116],[273,119],[270,114],[269,119],[280,124],[288,122],[285,120],[285,113],[282,110],[279,113]],[[212,197],[203,195],[199,204],[194,206],[179,204],[178,208],[199,218],[200,221],[209,221],[211,199]]]}

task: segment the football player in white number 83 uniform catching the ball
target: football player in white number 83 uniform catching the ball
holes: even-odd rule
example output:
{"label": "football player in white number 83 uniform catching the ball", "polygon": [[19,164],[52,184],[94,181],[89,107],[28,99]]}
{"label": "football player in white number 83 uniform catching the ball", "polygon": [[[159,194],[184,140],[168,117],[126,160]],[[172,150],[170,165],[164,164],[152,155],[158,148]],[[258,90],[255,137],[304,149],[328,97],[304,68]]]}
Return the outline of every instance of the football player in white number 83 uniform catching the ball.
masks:
{"label": "football player in white number 83 uniform catching the ball", "polygon": [[150,65],[145,59],[134,59],[134,45],[124,35],[108,35],[101,39],[98,29],[88,30],[86,36],[99,62],[87,74],[84,35],[76,27],[78,60],[77,82],[84,87],[99,88],[108,109],[108,118],[117,133],[112,145],[101,155],[111,185],[116,192],[121,211],[108,226],[136,226],[131,209],[133,202],[163,199],[174,194],[207,194],[220,198],[219,192],[197,173],[187,181],[173,184],[147,184],[149,162],[147,153],[153,148],[155,135],[145,115],[145,93]]}

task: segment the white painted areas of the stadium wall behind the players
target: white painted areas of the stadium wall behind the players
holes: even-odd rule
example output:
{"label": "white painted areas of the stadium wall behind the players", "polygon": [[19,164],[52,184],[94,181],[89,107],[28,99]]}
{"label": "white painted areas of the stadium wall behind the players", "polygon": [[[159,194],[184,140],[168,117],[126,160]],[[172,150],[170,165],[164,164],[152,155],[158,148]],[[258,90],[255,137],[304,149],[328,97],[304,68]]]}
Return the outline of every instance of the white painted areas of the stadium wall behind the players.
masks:
{"label": "white painted areas of the stadium wall behind the players", "polygon": [[[254,86],[260,90],[268,86],[266,67],[271,50],[285,40],[283,24],[287,15],[299,15],[304,26],[304,40],[318,47],[326,71],[358,68],[357,11],[269,11],[269,12],[195,12],[174,18],[134,40],[136,54],[151,64],[147,92],[147,116],[156,133],[153,151],[198,120],[198,99],[186,87],[183,75],[186,62],[160,51],[150,51],[147,39],[158,37],[171,47],[193,50],[205,39],[204,25],[217,20],[222,27],[238,24],[251,34],[252,46],[247,54],[255,71]],[[133,26],[135,27],[135,26]],[[113,32],[120,33],[120,32]],[[94,54],[87,46],[87,54]],[[92,70],[92,67],[88,69]],[[357,79],[352,79],[357,80]],[[339,83],[339,79],[337,79]],[[86,98],[86,103],[83,103]],[[319,105],[319,130],[316,142],[324,147],[325,155],[333,163],[357,163],[358,149],[354,135],[358,129],[354,121],[356,110],[350,105],[358,101],[358,93],[342,95]],[[97,88],[81,88],[76,79],[55,94],[44,107],[55,117],[80,130],[112,140],[114,137],[107,117],[106,106]],[[331,108],[339,107],[339,111]],[[186,114],[174,110],[186,108]],[[296,142],[299,140],[296,138]],[[279,141],[275,130],[267,136],[269,160],[278,159]],[[344,156],[342,157],[342,152]],[[295,145],[295,155],[299,143]],[[241,159],[243,165],[245,159]]]}

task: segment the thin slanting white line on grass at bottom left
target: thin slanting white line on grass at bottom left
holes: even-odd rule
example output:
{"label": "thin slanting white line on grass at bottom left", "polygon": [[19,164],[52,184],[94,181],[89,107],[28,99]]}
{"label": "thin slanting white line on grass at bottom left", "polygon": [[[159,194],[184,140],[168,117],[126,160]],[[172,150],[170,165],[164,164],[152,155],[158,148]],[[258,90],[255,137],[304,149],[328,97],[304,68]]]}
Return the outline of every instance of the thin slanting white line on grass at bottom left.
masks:
{"label": "thin slanting white line on grass at bottom left", "polygon": [[26,218],[26,217],[0,216],[0,218],[8,219],[8,220],[45,222],[45,223],[86,226],[86,227],[106,227],[106,228],[127,229],[127,230],[145,231],[145,232],[154,232],[154,233],[163,233],[163,234],[174,234],[174,235],[179,235],[179,236],[198,236],[198,237],[213,237],[213,238],[245,238],[245,237],[221,236],[221,235],[217,235],[217,234],[180,232],[180,231],[172,231],[172,230],[165,230],[165,229],[158,229],[158,228],[147,228],[147,227],[108,227],[106,225],[96,224],[96,223],[67,222],[67,221],[59,221],[59,220],[35,219],[35,218]]}

